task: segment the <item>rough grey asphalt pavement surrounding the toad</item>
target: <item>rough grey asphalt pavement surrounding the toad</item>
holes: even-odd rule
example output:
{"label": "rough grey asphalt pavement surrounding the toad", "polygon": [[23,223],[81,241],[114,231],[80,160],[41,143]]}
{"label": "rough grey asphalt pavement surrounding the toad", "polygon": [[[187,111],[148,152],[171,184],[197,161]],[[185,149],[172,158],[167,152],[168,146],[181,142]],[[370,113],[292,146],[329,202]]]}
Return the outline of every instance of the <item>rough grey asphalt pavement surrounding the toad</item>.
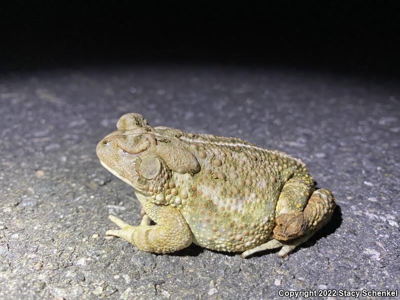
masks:
{"label": "rough grey asphalt pavement surrounding the toad", "polygon": [[[141,65],[0,78],[1,299],[270,299],[278,290],[400,288],[400,88],[289,69]],[[288,260],[195,245],[169,255],[106,237],[131,187],[98,140],[120,115],[238,136],[301,158],[333,219]]]}

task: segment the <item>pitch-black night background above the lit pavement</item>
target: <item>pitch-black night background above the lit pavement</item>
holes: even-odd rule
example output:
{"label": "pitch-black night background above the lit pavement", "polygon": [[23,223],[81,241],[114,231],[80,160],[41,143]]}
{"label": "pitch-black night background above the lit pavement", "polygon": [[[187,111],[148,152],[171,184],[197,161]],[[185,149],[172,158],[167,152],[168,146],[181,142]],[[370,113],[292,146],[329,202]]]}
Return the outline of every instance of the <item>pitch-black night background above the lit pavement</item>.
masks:
{"label": "pitch-black night background above the lit pavement", "polygon": [[399,16],[397,1],[3,1],[0,62],[228,63],[397,76]]}

